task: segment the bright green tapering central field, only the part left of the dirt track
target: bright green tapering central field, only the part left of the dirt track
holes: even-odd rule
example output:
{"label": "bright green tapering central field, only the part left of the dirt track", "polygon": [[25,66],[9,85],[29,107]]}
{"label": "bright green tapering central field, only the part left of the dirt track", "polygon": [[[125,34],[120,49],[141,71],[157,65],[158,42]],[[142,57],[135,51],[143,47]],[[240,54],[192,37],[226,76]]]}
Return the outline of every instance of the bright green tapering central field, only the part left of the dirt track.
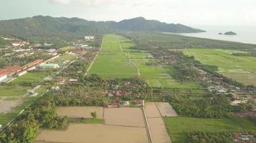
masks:
{"label": "bright green tapering central field, only the part left of the dirt track", "polygon": [[[101,53],[94,61],[89,74],[99,74],[104,78],[133,77],[136,69],[128,63],[127,52],[121,51],[117,35],[105,35]],[[122,44],[122,43],[121,43]]]}

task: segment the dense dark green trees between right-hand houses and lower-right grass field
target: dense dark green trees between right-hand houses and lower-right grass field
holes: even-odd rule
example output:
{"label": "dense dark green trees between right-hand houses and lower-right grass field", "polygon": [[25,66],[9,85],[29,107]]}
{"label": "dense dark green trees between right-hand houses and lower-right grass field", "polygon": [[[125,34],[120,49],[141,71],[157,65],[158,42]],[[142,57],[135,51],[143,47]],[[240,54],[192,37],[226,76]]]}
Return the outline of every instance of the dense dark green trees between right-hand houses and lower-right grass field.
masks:
{"label": "dense dark green trees between right-hand houses and lower-right grass field", "polygon": [[178,114],[189,117],[223,118],[231,115],[229,100],[224,96],[205,97],[192,100],[188,96],[175,96],[170,104]]}

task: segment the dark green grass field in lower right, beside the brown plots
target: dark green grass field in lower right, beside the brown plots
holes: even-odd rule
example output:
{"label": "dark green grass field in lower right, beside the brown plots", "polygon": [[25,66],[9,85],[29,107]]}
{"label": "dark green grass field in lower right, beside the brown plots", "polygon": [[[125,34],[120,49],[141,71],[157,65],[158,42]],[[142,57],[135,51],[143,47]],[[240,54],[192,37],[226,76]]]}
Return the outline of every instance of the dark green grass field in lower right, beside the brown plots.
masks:
{"label": "dark green grass field in lower right, beside the brown plots", "polygon": [[164,122],[173,143],[188,142],[188,132],[253,131],[256,126],[247,119],[201,119],[193,117],[165,117]]}

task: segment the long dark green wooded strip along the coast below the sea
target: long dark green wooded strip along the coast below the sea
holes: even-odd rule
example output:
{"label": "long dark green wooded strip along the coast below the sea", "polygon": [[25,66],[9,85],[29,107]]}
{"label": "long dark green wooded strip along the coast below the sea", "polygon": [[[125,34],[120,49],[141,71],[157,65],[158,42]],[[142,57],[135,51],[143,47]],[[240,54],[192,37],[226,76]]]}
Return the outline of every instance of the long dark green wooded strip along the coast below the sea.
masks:
{"label": "long dark green wooded strip along the coast below the sea", "polygon": [[252,51],[255,49],[255,44],[242,44],[232,41],[221,41],[213,39],[201,39],[190,36],[180,36],[177,34],[160,34],[160,33],[138,33],[129,32],[122,33],[129,39],[132,39],[137,46],[149,50],[152,47],[162,47],[167,49],[240,49]]}

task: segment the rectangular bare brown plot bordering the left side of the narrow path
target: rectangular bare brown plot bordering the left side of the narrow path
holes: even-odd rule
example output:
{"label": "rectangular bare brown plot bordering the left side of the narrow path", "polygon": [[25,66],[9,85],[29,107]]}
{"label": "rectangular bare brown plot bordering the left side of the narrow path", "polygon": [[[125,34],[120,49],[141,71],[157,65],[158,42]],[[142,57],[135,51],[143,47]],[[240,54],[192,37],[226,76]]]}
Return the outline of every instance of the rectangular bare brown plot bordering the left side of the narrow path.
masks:
{"label": "rectangular bare brown plot bordering the left side of the narrow path", "polygon": [[105,124],[145,127],[142,109],[140,108],[106,108]]}

